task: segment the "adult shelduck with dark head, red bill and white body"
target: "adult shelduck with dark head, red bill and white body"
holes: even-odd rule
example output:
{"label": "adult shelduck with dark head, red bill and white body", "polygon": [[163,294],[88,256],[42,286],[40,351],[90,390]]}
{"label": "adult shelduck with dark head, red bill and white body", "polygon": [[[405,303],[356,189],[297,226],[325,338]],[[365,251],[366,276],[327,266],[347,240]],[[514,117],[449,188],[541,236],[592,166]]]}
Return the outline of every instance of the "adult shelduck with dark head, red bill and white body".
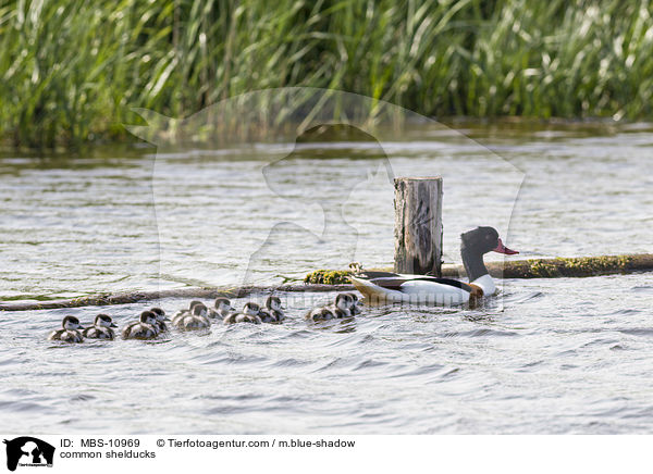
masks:
{"label": "adult shelduck with dark head, red bill and white body", "polygon": [[391,272],[362,272],[352,277],[356,289],[371,301],[414,304],[457,305],[470,298],[492,296],[494,282],[483,263],[488,252],[519,253],[504,246],[493,227],[477,227],[460,235],[460,254],[469,284],[428,275],[401,275]]}

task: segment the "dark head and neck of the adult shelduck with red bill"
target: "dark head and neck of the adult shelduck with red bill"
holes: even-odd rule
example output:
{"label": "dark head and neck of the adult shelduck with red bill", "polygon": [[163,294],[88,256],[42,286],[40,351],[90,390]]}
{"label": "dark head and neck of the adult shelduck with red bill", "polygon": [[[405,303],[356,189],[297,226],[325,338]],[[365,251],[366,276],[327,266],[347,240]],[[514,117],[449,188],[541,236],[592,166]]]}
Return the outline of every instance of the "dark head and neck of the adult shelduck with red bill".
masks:
{"label": "dark head and neck of the adult shelduck with red bill", "polygon": [[460,254],[465,271],[470,282],[485,275],[488,269],[483,263],[483,255],[488,252],[514,255],[519,253],[504,246],[494,227],[477,227],[460,235]]}

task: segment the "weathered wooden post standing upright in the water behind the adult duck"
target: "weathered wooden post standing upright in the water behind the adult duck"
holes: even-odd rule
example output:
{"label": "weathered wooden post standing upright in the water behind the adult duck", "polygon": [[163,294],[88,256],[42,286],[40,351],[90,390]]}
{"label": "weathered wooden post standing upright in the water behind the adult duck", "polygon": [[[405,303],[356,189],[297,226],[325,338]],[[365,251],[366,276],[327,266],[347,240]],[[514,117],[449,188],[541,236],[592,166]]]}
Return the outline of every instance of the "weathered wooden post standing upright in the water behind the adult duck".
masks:
{"label": "weathered wooden post standing upright in the water behind the adult duck", "polygon": [[442,177],[395,178],[397,273],[442,276]]}

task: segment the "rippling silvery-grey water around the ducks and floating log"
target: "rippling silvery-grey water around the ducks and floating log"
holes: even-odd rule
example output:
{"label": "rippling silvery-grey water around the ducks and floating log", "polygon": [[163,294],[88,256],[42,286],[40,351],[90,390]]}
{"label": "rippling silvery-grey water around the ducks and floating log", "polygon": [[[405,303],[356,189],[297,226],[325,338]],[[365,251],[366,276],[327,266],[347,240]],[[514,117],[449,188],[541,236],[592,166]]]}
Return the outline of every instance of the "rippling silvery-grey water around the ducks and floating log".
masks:
{"label": "rippling silvery-grey water around the ducks and floating log", "polygon": [[[459,259],[458,234],[479,224],[496,226],[521,257],[651,251],[653,127],[461,129],[478,142],[422,128],[383,142],[395,175],[444,175],[447,261]],[[280,283],[352,259],[390,265],[392,187],[378,145],[307,146],[266,178],[264,166],[293,150],[160,153],[156,164],[152,149],[75,160],[5,155],[0,299]],[[653,427],[650,273],[506,280],[501,297],[478,310],[373,308],[326,325],[301,316],[333,295],[280,296],[289,308],[283,325],[173,332],[151,344],[46,340],[64,314],[89,322],[98,308],[4,312],[3,426],[206,434]],[[187,301],[102,311],[122,325],[152,303],[172,312]]]}

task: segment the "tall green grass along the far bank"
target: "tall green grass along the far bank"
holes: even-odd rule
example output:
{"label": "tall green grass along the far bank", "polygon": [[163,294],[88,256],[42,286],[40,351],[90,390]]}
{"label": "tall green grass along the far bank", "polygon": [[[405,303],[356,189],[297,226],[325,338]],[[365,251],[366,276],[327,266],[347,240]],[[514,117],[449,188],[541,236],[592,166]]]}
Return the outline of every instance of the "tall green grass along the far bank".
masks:
{"label": "tall green grass along the far bank", "polygon": [[0,137],[121,139],[133,107],[184,116],[283,86],[424,115],[649,118],[648,0],[4,0]]}

